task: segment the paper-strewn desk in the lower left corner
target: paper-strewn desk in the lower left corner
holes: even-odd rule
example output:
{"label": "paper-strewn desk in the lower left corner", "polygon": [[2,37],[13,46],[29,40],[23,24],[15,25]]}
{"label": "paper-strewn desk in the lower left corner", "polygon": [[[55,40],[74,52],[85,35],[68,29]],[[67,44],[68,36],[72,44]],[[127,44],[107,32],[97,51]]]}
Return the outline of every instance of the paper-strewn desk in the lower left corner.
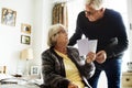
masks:
{"label": "paper-strewn desk in the lower left corner", "polygon": [[40,88],[42,79],[34,76],[11,77],[0,80],[0,88]]}

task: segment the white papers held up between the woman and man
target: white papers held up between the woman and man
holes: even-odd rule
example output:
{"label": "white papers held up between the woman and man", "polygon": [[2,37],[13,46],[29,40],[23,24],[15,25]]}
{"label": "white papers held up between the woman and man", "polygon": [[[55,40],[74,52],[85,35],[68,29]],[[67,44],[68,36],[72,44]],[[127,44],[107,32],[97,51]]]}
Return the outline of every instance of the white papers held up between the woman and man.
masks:
{"label": "white papers held up between the woman and man", "polygon": [[82,38],[77,41],[79,55],[87,55],[89,52],[96,53],[97,40]]}

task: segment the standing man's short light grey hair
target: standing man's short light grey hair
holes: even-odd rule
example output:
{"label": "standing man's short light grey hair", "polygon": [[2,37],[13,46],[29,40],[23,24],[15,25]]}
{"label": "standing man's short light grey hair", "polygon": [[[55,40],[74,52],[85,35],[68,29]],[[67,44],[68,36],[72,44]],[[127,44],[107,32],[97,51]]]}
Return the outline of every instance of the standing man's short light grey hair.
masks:
{"label": "standing man's short light grey hair", "polygon": [[85,4],[91,6],[94,9],[99,10],[102,8],[103,0],[85,0]]}

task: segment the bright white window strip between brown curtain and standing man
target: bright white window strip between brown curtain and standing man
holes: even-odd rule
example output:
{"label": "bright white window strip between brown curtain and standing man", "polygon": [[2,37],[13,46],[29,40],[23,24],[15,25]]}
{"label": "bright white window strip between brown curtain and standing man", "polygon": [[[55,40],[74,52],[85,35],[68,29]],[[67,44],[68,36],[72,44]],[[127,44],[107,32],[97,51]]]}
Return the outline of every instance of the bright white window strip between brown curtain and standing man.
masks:
{"label": "bright white window strip between brown curtain and standing man", "polygon": [[67,7],[68,7],[68,37],[70,37],[76,29],[77,15],[80,11],[84,10],[85,7],[82,0],[68,1]]}

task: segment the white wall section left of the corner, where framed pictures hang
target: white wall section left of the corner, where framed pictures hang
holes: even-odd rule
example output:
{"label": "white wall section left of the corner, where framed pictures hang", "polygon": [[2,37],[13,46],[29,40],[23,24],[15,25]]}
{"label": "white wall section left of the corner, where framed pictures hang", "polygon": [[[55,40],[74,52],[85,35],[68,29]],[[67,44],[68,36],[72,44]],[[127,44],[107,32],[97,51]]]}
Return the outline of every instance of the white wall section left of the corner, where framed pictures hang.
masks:
{"label": "white wall section left of the corner, where framed pictures hang", "polygon": [[32,7],[32,0],[0,0],[0,16],[2,8],[16,11],[15,26],[0,23],[0,66],[6,65],[10,74],[16,73],[20,51],[32,45],[21,44],[21,23],[33,25]]}

